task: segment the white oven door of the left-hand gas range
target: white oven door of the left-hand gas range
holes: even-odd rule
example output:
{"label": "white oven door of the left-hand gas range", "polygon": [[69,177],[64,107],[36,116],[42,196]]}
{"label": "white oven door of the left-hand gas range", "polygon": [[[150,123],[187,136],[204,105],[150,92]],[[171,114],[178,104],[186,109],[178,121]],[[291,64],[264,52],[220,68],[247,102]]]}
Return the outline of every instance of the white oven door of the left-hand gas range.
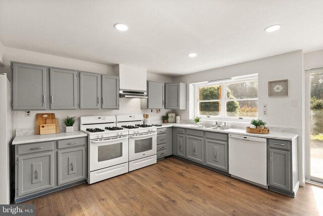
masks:
{"label": "white oven door of the left-hand gas range", "polygon": [[128,135],[90,140],[90,171],[128,162]]}

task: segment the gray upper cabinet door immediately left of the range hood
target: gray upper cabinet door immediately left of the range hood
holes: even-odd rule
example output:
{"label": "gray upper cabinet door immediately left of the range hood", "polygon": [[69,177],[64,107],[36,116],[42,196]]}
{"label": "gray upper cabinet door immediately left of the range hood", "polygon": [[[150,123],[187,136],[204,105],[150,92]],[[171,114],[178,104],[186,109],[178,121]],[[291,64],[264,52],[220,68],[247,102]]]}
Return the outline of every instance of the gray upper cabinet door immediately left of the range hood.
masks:
{"label": "gray upper cabinet door immediately left of the range hood", "polygon": [[102,109],[119,109],[119,77],[102,75]]}

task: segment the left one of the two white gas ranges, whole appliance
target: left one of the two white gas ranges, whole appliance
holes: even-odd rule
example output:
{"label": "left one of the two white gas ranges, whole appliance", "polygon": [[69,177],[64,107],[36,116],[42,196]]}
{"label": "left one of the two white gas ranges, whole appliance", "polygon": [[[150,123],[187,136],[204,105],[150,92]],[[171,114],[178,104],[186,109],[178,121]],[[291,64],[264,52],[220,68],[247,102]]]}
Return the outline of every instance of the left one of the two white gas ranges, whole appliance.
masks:
{"label": "left one of the two white gas ranges, whole appliance", "polygon": [[128,173],[128,130],[116,127],[115,116],[84,116],[80,131],[88,134],[89,184]]}

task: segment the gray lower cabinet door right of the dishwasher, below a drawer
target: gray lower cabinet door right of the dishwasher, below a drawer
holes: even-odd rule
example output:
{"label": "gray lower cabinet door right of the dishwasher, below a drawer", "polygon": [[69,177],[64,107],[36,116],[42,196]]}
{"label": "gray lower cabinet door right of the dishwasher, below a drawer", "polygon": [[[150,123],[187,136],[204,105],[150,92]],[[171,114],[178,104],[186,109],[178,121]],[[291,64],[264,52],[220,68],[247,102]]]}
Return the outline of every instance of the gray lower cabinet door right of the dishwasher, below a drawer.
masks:
{"label": "gray lower cabinet door right of the dishwasher, below a drawer", "polygon": [[290,152],[269,149],[269,185],[290,191]]}

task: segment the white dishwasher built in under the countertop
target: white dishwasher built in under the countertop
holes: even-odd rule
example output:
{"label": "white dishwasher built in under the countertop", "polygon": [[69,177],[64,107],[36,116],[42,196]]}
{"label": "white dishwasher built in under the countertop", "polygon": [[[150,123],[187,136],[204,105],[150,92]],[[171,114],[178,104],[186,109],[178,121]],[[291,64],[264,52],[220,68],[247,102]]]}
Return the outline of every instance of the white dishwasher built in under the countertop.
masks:
{"label": "white dishwasher built in under the countertop", "polygon": [[267,188],[267,140],[229,134],[229,174]]}

